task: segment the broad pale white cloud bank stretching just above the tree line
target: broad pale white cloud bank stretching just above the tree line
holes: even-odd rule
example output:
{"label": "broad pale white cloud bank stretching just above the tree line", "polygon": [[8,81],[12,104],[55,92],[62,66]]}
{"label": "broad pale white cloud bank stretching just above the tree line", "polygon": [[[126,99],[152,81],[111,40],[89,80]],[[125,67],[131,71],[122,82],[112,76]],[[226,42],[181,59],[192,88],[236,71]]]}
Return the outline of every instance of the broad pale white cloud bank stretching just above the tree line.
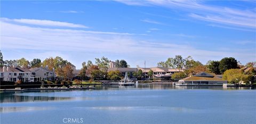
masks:
{"label": "broad pale white cloud bank stretching just above the tree line", "polygon": [[[29,56],[30,58],[33,58],[31,55],[36,58],[37,51],[47,51],[46,54],[39,54],[45,57],[52,56],[51,53],[63,55],[64,52],[69,51],[77,54],[82,53],[83,56],[79,56],[79,59],[92,53],[95,56],[131,56],[134,63],[141,59],[147,59],[155,64],[159,61],[157,58],[163,59],[174,55],[190,55],[203,63],[210,59],[218,60],[227,56],[235,57],[238,60],[256,58],[252,52],[203,50],[186,44],[179,45],[175,41],[149,42],[147,39],[140,40],[136,36],[116,32],[38,28],[1,21],[1,49],[33,50],[33,54],[28,53],[28,55],[17,52],[19,56]],[[47,56],[47,54],[49,55]],[[73,58],[69,61],[76,61],[78,58],[73,56],[77,56],[77,54],[65,58]]]}

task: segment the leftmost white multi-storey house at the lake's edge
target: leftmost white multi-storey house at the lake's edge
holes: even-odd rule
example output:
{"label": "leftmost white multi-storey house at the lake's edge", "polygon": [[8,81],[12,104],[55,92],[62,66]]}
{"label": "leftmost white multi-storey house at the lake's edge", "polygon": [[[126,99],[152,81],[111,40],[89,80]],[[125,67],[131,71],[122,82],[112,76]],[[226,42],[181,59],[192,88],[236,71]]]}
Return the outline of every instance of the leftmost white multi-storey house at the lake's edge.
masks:
{"label": "leftmost white multi-storey house at the lake's edge", "polygon": [[34,76],[29,69],[16,66],[1,67],[0,72],[0,81],[17,82],[21,80],[22,82],[34,82],[39,79],[39,77]]}

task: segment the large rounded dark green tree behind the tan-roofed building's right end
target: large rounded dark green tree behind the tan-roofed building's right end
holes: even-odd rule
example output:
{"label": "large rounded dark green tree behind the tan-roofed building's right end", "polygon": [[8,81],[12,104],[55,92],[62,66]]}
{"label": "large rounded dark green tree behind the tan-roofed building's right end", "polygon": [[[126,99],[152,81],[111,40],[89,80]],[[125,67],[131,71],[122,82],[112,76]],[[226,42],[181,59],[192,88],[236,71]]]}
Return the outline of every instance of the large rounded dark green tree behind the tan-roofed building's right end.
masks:
{"label": "large rounded dark green tree behind the tan-roofed building's right end", "polygon": [[233,57],[226,57],[220,60],[220,73],[223,74],[226,70],[232,69],[232,68],[238,68],[237,67],[237,60]]}

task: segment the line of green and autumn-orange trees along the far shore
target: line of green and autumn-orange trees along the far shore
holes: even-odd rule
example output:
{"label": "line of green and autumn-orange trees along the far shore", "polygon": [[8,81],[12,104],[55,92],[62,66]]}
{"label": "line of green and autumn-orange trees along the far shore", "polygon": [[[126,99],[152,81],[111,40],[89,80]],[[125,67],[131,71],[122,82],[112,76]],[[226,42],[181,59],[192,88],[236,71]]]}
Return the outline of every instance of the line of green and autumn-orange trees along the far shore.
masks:
{"label": "line of green and autumn-orange trees along the far shore", "polygon": [[[92,80],[101,80],[101,79],[111,79],[111,80],[119,80],[124,75],[119,71],[110,71],[107,72],[109,67],[110,60],[106,57],[95,58],[95,64],[92,63],[91,60],[88,60],[87,63],[82,63],[82,68],[75,78],[77,79],[90,79]],[[130,67],[125,60],[116,60],[116,67]],[[3,55],[0,50],[0,67],[3,66],[12,66],[17,65],[24,68],[34,68],[34,67],[46,67],[48,66],[49,70],[55,69],[55,74],[57,74],[58,79],[60,80],[71,80],[74,77],[73,64],[71,64],[68,60],[64,60],[61,57],[49,57],[45,60],[41,61],[41,59],[35,58],[31,61],[28,61],[25,58],[17,59],[17,60],[3,60]],[[214,73],[214,74],[223,74],[223,78],[227,79],[229,82],[237,82],[237,80],[243,79],[244,81],[252,81],[251,78],[255,75],[252,74],[244,74],[241,68],[244,67],[255,67],[256,61],[252,61],[247,63],[246,65],[242,65],[233,57],[225,57],[219,61],[209,60],[206,65],[203,65],[200,61],[194,60],[191,56],[183,58],[180,55],[176,55],[174,58],[167,58],[166,61],[160,61],[157,63],[158,67],[167,67],[167,68],[178,68],[181,70],[182,68],[186,68],[184,72],[174,73],[172,75],[172,79],[178,80],[181,78],[187,77],[191,73]],[[233,70],[230,70],[233,69]],[[234,70],[235,69],[235,70]],[[227,71],[229,70],[229,71]],[[239,71],[238,71],[239,70]],[[231,72],[230,72],[231,71]],[[236,74],[236,76],[231,77],[231,74]],[[154,77],[153,70],[149,70],[148,76],[149,78]],[[250,76],[249,76],[250,75]],[[143,77],[143,72],[141,69],[138,72],[133,72],[132,75],[129,73],[129,77]],[[255,76],[254,76],[255,77]],[[250,79],[249,79],[250,78]]]}

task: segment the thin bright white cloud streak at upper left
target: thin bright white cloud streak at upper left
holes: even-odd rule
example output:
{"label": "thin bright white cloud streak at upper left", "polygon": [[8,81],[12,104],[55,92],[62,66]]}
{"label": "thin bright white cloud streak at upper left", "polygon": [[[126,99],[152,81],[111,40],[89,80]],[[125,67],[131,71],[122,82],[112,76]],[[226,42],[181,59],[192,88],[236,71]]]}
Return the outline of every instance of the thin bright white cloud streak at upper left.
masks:
{"label": "thin bright white cloud streak at upper left", "polygon": [[5,22],[18,22],[23,24],[30,25],[41,25],[41,26],[62,26],[68,28],[89,28],[88,26],[81,24],[73,24],[68,22],[59,22],[59,21],[51,21],[51,20],[34,20],[34,19],[7,19],[1,17],[1,21]]}

